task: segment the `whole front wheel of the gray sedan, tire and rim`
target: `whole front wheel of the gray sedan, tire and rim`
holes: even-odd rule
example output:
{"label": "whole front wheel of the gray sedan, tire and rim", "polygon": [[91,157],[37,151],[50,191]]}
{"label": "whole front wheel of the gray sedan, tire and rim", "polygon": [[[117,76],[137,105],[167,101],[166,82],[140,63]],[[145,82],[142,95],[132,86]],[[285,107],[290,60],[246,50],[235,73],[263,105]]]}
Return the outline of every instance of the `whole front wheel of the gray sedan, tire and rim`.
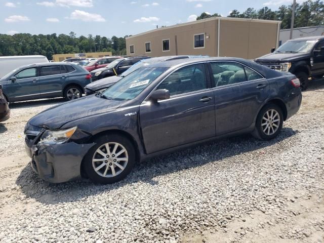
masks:
{"label": "whole front wheel of the gray sedan, tire and rim", "polygon": [[[86,154],[83,165],[88,177],[100,184],[123,180],[131,172],[136,161],[132,142],[118,134],[103,135],[93,142],[96,145]],[[117,161],[117,159],[123,160]]]}

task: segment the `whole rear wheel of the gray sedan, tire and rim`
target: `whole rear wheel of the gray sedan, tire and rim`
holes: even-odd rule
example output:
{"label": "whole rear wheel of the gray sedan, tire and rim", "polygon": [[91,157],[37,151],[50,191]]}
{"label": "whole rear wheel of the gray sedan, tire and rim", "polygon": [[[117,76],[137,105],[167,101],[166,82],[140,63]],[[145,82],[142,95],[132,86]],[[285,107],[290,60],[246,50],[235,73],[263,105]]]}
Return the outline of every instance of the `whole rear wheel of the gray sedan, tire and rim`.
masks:
{"label": "whole rear wheel of the gray sedan, tire and rim", "polygon": [[[279,118],[277,118],[278,116]],[[271,140],[278,136],[283,123],[284,115],[282,114],[281,108],[275,104],[267,104],[260,110],[257,116],[255,129],[252,135],[260,140]],[[272,124],[272,128],[269,124]]]}

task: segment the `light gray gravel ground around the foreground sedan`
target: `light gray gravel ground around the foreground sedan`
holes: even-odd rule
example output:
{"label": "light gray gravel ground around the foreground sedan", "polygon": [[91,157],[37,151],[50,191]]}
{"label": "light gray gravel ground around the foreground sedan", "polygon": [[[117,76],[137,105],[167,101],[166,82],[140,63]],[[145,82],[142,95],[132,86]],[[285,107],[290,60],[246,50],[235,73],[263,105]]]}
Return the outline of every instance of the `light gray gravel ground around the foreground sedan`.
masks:
{"label": "light gray gravel ground around the foreground sedan", "polygon": [[58,102],[13,104],[0,125],[0,241],[324,242],[324,80],[275,140],[160,156],[113,185],[49,184],[27,166],[25,122]]}

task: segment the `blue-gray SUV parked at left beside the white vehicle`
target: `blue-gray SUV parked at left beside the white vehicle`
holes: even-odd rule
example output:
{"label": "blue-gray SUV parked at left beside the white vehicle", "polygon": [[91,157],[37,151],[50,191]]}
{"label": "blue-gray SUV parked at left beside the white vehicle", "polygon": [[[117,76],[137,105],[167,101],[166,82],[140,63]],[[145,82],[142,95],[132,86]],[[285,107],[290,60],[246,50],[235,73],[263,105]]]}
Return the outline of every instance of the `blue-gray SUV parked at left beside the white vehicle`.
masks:
{"label": "blue-gray SUV parked at left beside the white vehicle", "polygon": [[91,83],[91,74],[82,66],[68,62],[50,62],[21,66],[0,79],[9,102],[64,97],[79,98],[83,87]]}

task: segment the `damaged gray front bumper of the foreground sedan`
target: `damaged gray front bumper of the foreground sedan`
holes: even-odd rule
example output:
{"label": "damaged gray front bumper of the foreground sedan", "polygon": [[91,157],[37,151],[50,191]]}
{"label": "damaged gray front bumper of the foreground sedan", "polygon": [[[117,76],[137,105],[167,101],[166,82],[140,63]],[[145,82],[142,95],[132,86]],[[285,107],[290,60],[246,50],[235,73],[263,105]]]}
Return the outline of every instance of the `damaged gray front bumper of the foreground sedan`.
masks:
{"label": "damaged gray front bumper of the foreground sedan", "polygon": [[81,163],[94,146],[91,144],[77,144],[68,142],[63,144],[36,144],[28,146],[25,142],[25,149],[31,157],[31,168],[38,176],[51,183],[61,183],[76,180],[81,177]]}

